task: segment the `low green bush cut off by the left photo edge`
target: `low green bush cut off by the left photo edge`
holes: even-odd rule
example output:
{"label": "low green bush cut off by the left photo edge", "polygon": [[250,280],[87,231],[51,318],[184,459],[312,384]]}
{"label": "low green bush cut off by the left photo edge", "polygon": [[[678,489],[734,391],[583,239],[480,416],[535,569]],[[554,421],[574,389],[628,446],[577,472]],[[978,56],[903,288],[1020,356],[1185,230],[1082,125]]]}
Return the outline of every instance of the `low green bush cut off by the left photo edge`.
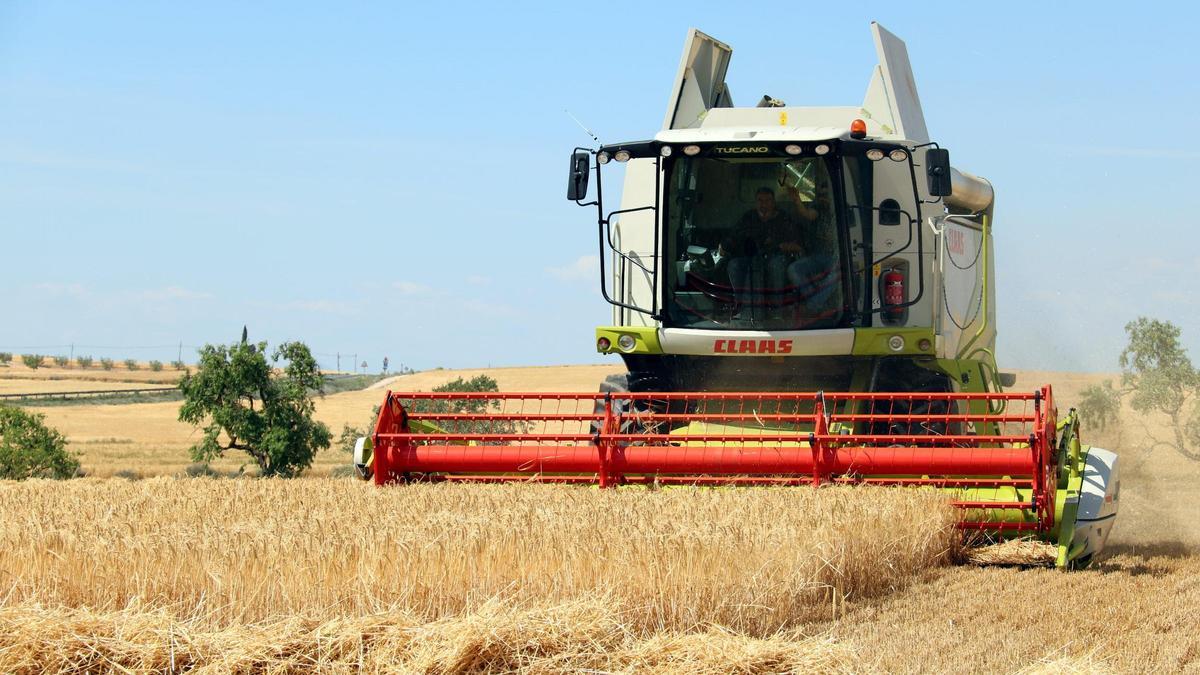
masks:
{"label": "low green bush cut off by the left photo edge", "polygon": [[46,416],[0,406],[0,478],[71,478],[79,460],[67,452],[67,440],[46,426]]}

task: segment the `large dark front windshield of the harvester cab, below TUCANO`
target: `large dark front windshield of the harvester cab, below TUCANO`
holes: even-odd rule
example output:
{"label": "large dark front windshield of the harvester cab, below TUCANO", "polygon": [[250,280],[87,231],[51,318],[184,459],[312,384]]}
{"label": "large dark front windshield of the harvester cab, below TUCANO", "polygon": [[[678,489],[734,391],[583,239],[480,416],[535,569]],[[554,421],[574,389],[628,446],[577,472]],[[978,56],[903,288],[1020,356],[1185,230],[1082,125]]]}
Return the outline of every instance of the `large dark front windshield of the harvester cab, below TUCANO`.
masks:
{"label": "large dark front windshield of the harvester cab, below TUCANO", "polygon": [[824,157],[680,157],[666,187],[672,325],[841,325],[842,243]]}

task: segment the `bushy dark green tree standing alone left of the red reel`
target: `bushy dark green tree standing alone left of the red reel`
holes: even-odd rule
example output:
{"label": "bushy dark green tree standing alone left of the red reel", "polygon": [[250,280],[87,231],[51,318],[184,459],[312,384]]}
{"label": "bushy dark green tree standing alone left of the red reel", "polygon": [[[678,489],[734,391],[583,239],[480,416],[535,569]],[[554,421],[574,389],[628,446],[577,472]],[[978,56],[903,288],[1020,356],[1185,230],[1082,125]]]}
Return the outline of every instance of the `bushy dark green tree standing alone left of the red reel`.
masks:
{"label": "bushy dark green tree standing alone left of the red reel", "polygon": [[209,462],[240,450],[262,476],[294,477],[330,444],[329,428],[312,418],[320,370],[302,342],[284,342],[266,359],[266,342],[245,339],[230,346],[205,345],[194,374],[179,383],[179,419],[203,426],[192,460]]}

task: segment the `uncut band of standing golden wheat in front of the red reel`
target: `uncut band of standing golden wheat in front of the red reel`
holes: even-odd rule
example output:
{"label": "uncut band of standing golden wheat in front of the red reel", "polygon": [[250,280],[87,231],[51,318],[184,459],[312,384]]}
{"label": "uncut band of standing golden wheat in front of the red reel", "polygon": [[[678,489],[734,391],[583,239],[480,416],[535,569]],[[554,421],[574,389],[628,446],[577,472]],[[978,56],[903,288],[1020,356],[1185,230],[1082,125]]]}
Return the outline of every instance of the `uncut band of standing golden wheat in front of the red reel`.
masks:
{"label": "uncut band of standing golden wheat in front of the red reel", "polygon": [[7,603],[193,608],[208,627],[500,598],[610,598],[631,631],[757,637],[888,593],[947,562],[934,491],[595,490],[348,480],[0,484]]}

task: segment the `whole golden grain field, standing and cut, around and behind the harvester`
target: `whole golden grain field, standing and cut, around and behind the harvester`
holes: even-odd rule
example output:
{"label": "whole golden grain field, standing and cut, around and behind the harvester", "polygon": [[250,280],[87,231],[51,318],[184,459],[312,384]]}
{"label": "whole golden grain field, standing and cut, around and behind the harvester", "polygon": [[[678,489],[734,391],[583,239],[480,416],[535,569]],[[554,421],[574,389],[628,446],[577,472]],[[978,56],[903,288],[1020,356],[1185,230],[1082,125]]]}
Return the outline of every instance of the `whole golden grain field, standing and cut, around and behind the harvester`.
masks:
{"label": "whole golden grain field, standing and cut, around and behind the harvester", "polygon": [[[385,389],[618,371],[420,372],[317,414],[336,434]],[[1105,378],[1014,389],[1066,412]],[[41,408],[90,474],[157,478],[0,483],[0,671],[1200,673],[1200,465],[1128,407],[1085,420],[1121,512],[1070,573],[958,562],[944,504],[904,490],[377,489],[324,477],[337,450],[299,480],[178,478],[178,408]]]}

